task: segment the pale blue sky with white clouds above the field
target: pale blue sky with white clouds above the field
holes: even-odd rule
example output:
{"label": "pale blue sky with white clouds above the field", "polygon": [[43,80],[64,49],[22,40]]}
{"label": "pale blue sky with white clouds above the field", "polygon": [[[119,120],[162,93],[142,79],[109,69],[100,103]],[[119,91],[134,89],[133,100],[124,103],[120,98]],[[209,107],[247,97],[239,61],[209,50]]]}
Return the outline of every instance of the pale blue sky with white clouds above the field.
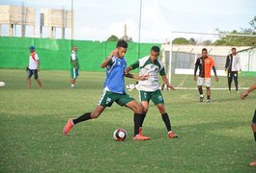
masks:
{"label": "pale blue sky with white clouds above the field", "polygon": [[[165,42],[171,37],[195,37],[171,34],[179,32],[216,33],[249,28],[256,15],[256,0],[141,0],[140,42]],[[37,12],[36,35],[39,37],[39,14],[43,8],[71,10],[71,0],[0,0],[0,5],[25,2]],[[74,39],[106,40],[115,35],[139,41],[140,0],[72,0]],[[7,28],[3,29],[7,34]],[[47,31],[45,29],[45,32]],[[60,32],[59,32],[60,33]],[[45,35],[46,35],[45,34]],[[47,37],[47,36],[44,36]],[[58,36],[57,36],[58,37]],[[67,37],[71,37],[70,30]]]}

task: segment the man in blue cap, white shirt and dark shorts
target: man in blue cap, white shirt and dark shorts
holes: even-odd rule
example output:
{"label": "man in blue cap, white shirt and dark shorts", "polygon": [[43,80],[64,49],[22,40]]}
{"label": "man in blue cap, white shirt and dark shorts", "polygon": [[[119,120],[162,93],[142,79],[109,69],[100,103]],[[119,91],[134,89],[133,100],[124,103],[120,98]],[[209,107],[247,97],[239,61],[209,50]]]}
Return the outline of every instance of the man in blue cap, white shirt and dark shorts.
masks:
{"label": "man in blue cap, white shirt and dark shorts", "polygon": [[43,88],[43,84],[41,80],[39,79],[38,72],[40,71],[40,60],[38,54],[35,52],[35,47],[30,46],[29,47],[30,56],[29,56],[29,65],[27,67],[27,87],[31,88],[31,77],[34,75],[34,79],[39,84],[40,88]]}

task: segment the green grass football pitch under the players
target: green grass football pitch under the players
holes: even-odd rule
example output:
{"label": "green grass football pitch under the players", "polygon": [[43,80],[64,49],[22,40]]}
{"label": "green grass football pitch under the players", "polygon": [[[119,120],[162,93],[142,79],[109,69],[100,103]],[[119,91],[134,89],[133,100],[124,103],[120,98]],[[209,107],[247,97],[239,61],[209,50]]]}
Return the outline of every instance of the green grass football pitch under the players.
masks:
{"label": "green grass football pitch under the players", "polygon": [[[151,104],[144,123],[151,140],[133,141],[132,112],[117,105],[62,135],[68,118],[95,108],[104,73],[81,72],[76,89],[68,71],[40,77],[45,88],[33,80],[28,90],[24,70],[0,69],[6,82],[0,88],[0,172],[256,172],[248,165],[256,160],[250,129],[256,92],[242,101],[235,92],[213,90],[207,104],[198,102],[197,90],[163,91],[179,138],[167,138]],[[128,94],[138,99],[136,90]],[[113,140],[119,127],[128,131],[126,141]]]}

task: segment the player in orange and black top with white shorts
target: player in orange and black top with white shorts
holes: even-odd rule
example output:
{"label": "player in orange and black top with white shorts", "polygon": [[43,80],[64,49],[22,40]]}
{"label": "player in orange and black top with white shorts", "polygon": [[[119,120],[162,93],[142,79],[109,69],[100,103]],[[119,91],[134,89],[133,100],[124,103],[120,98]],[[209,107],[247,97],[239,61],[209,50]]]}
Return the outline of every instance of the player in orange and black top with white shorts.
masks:
{"label": "player in orange and black top with white shorts", "polygon": [[[199,76],[196,77],[197,68],[199,67]],[[203,102],[204,94],[203,94],[203,85],[206,86],[207,89],[207,103],[211,101],[211,67],[213,68],[214,79],[218,82],[218,78],[216,75],[216,69],[214,66],[213,58],[208,56],[208,52],[206,48],[202,49],[202,57],[199,57],[195,62],[194,68],[194,81],[197,81],[198,91],[200,93],[200,102]]]}

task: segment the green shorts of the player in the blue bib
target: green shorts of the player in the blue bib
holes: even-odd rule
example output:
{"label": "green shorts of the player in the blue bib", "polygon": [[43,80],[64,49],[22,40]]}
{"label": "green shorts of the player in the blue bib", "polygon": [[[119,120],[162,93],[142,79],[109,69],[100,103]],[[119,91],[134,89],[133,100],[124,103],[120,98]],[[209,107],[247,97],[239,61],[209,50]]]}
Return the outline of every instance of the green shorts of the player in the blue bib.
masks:
{"label": "green shorts of the player in the blue bib", "polygon": [[120,106],[126,106],[128,102],[134,99],[130,97],[126,92],[123,94],[115,93],[107,90],[103,90],[102,95],[99,100],[99,104],[102,107],[111,107],[114,102]]}

